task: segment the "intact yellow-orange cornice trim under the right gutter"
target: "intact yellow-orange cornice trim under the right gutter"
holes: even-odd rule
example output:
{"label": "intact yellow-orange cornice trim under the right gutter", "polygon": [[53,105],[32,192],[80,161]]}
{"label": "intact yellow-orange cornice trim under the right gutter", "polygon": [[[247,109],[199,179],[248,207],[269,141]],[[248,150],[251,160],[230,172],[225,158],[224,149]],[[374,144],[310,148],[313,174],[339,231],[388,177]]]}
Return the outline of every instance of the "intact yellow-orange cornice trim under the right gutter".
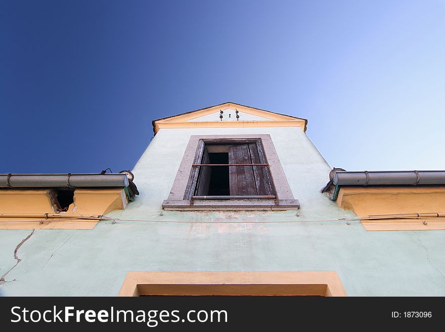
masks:
{"label": "intact yellow-orange cornice trim under the right gutter", "polygon": [[[358,216],[441,213],[445,211],[445,186],[340,187],[337,205]],[[442,218],[362,220],[366,230],[444,230]]]}

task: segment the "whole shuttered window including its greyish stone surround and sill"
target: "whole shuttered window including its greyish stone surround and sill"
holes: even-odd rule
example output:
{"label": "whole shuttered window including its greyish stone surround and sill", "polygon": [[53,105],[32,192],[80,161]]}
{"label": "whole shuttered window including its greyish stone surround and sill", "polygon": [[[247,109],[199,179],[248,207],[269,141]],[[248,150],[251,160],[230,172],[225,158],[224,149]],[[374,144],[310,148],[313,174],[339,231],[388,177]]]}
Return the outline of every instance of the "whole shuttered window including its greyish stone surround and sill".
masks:
{"label": "whole shuttered window including its greyish stone surround and sill", "polygon": [[269,134],[191,135],[164,210],[298,209]]}

